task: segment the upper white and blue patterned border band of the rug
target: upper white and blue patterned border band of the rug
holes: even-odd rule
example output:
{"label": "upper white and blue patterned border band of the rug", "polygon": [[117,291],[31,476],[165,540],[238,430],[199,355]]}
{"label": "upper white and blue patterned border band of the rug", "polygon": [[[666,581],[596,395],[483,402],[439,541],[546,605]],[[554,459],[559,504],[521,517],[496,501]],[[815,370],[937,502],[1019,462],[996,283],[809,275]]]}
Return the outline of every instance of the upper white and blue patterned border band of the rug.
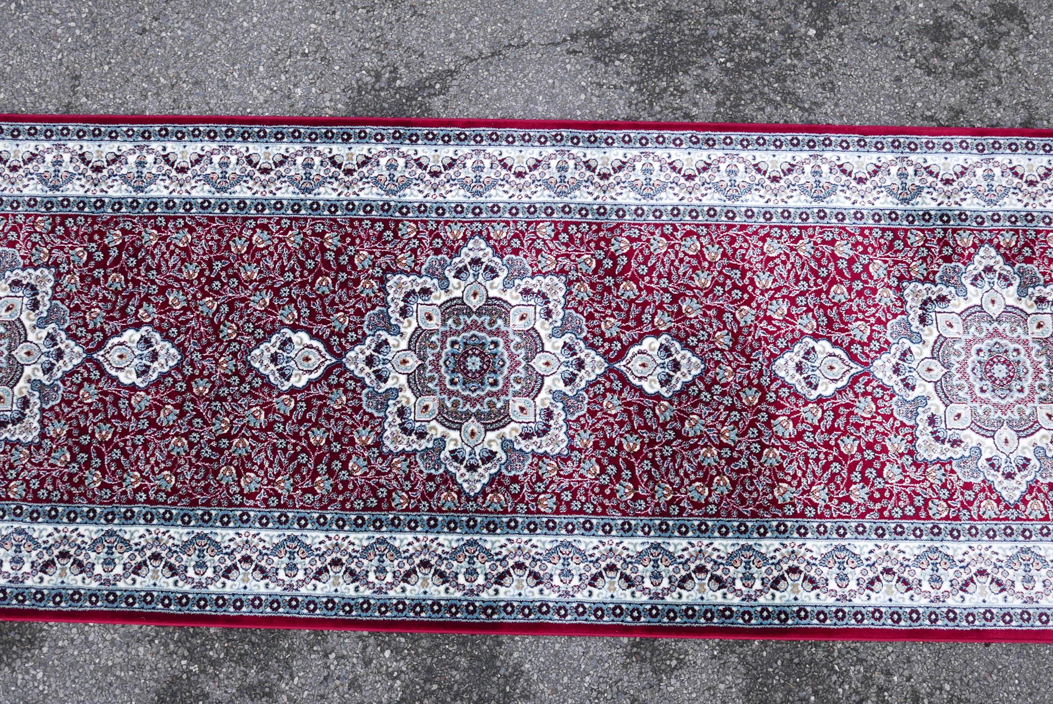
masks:
{"label": "upper white and blue patterned border band of the rug", "polygon": [[1045,134],[2,120],[0,212],[1053,225]]}

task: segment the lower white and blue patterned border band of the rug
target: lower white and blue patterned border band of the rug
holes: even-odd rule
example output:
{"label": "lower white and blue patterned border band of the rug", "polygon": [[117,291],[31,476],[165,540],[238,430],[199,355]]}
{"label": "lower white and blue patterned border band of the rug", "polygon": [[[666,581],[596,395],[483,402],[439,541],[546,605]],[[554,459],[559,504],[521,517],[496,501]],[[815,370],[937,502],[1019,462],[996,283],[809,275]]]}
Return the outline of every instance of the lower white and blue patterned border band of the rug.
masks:
{"label": "lower white and blue patterned border band of the rug", "polygon": [[[117,510],[128,516],[133,509]],[[81,615],[120,607],[513,626],[999,630],[1046,627],[1053,616],[1047,524],[948,529],[938,523],[743,521],[707,525],[710,535],[697,538],[669,536],[689,522],[662,522],[665,535],[654,536],[652,522],[638,521],[631,536],[612,537],[605,522],[598,535],[583,537],[575,526],[595,528],[594,519],[568,519],[548,535],[482,536],[478,524],[468,528],[473,517],[415,517],[438,528],[428,532],[397,515],[318,515],[313,526],[301,523],[306,528],[267,529],[237,525],[241,521],[223,526],[225,515],[210,515],[213,527],[188,528],[154,524],[147,517],[156,509],[135,510],[140,524],[116,525],[107,524],[114,514],[107,507],[4,505],[0,614],[7,606]],[[210,511],[196,512],[202,520]],[[281,526],[291,518],[261,512],[256,521]],[[338,528],[341,519],[357,529]]]}

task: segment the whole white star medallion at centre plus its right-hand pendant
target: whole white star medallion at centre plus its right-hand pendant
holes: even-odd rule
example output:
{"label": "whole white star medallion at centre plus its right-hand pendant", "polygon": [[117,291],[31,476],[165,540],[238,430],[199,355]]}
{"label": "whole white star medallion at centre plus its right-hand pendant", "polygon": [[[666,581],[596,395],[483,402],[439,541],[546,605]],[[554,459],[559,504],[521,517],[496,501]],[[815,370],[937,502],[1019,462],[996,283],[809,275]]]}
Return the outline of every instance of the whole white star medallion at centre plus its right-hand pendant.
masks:
{"label": "whole white star medallion at centre plus its right-hand pendant", "polygon": [[[366,318],[369,337],[343,359],[384,418],[384,448],[417,454],[473,495],[528,455],[563,454],[567,421],[584,413],[582,391],[610,365],[585,344],[584,319],[564,310],[562,279],[531,276],[478,237],[424,273],[389,278],[386,309]],[[702,370],[669,335],[613,366],[663,397]]]}

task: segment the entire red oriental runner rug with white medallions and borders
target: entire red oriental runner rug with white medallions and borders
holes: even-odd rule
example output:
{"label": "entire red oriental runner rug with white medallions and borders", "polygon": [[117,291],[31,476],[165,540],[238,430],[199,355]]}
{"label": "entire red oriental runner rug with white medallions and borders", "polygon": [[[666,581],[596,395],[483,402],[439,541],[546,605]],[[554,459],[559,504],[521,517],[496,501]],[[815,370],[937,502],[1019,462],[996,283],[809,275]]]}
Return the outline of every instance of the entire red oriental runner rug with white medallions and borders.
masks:
{"label": "entire red oriental runner rug with white medallions and borders", "polygon": [[1053,133],[0,117],[0,618],[1053,640]]}

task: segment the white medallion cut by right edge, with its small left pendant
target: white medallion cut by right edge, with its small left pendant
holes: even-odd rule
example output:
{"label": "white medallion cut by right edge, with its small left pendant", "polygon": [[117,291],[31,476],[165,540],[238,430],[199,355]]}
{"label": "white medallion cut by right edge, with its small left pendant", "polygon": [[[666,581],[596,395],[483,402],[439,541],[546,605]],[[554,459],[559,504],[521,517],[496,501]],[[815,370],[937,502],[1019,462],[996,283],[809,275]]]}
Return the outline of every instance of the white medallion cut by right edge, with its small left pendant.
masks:
{"label": "white medallion cut by right edge, with its small left pendant", "polygon": [[[950,461],[1011,504],[1036,479],[1053,481],[1053,286],[984,245],[968,266],[942,266],[936,283],[907,284],[903,299],[892,345],[869,370],[895,393],[896,418],[914,426],[915,457]],[[804,338],[773,370],[814,400],[862,367]]]}

